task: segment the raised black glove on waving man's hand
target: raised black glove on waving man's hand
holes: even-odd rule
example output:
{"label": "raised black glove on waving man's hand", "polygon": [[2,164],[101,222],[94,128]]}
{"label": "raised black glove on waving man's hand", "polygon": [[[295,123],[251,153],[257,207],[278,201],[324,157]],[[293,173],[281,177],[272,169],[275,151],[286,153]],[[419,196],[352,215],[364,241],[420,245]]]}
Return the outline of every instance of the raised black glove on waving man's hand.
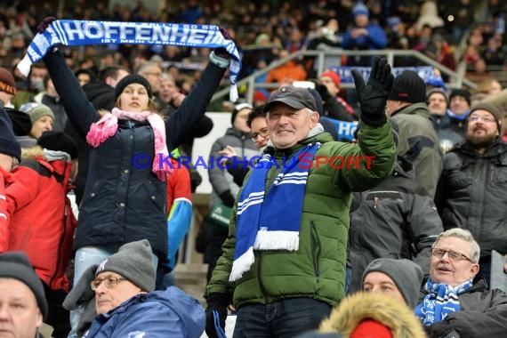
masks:
{"label": "raised black glove on waving man's hand", "polygon": [[352,70],[352,76],[361,105],[361,120],[367,125],[383,125],[387,121],[385,104],[394,81],[387,60],[374,57],[370,78],[366,84],[357,70]]}

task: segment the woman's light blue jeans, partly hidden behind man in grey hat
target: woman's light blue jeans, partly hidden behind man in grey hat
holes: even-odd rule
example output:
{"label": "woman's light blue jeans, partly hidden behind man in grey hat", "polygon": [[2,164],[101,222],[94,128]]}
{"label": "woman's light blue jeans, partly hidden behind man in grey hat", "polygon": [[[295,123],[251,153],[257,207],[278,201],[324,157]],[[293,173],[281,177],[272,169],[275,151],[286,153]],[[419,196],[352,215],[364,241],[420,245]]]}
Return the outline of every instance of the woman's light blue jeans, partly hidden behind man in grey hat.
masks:
{"label": "woman's light blue jeans, partly hidden behind man in grey hat", "polygon": [[[100,264],[111,254],[115,254],[121,245],[83,246],[76,251],[74,260],[74,285],[93,264]],[[153,265],[157,270],[158,257],[153,254]],[[70,327],[68,338],[77,338],[77,326],[84,313],[86,304],[80,305],[76,310],[70,311]]]}

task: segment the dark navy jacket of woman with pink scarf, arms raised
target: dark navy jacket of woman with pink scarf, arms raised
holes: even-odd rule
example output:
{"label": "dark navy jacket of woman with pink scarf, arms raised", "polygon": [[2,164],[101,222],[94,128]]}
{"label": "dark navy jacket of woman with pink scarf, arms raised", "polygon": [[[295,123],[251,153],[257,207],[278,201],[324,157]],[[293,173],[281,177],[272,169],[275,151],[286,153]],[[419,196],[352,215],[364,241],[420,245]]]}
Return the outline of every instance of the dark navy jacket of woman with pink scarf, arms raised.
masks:
{"label": "dark navy jacket of woman with pink scarf, arms raised", "polygon": [[[96,110],[60,52],[48,53],[44,62],[68,120],[85,138],[90,126],[99,118]],[[165,121],[169,151],[184,141],[189,129],[203,116],[224,71],[225,68],[209,62],[180,109]],[[166,257],[166,186],[151,172],[154,156],[151,126],[133,120],[120,120],[117,133],[90,150],[74,249],[85,245],[122,245],[148,238],[158,257]],[[133,164],[138,160],[138,163],[148,161],[148,167],[136,168]]]}

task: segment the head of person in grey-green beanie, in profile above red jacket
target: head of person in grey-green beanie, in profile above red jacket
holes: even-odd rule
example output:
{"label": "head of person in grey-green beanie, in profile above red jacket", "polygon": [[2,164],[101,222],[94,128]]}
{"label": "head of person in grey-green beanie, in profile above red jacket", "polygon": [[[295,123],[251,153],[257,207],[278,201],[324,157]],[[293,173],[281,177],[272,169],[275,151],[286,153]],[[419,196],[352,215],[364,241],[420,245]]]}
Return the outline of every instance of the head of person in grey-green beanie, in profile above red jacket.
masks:
{"label": "head of person in grey-green beanie, in profile above red jacket", "polygon": [[52,110],[44,105],[35,102],[28,102],[20,107],[20,111],[25,112],[30,117],[32,122],[32,129],[28,134],[28,139],[20,139],[22,141],[21,147],[33,147],[36,141],[44,132],[52,131],[52,124],[54,121],[54,114]]}

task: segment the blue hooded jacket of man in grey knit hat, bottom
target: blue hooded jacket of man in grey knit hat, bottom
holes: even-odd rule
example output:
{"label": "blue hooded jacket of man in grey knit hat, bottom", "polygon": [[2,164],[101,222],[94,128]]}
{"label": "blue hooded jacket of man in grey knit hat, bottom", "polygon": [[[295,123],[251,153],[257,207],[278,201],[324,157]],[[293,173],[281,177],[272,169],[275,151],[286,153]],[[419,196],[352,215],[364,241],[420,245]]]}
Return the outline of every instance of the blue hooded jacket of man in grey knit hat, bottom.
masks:
{"label": "blue hooded jacket of man in grey knit hat, bottom", "polygon": [[116,309],[97,316],[84,338],[199,338],[205,311],[179,288],[138,294]]}

